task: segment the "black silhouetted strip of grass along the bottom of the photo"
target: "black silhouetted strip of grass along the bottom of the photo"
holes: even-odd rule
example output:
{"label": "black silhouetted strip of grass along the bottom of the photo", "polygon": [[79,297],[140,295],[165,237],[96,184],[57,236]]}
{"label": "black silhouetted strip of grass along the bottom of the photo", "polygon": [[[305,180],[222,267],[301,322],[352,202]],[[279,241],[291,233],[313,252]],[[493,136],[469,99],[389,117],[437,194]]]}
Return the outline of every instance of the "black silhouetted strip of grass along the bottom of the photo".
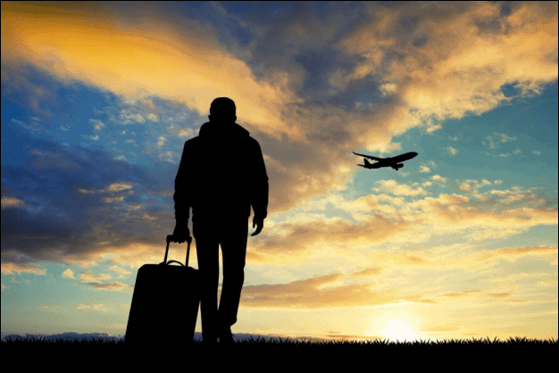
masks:
{"label": "black silhouetted strip of grass along the bottom of the photo", "polygon": [[[3,360],[16,359],[29,365],[43,367],[44,361],[89,361],[95,367],[121,365],[124,369],[145,369],[146,364],[161,361],[180,361],[185,367],[207,368],[208,365],[231,367],[231,361],[250,361],[261,369],[347,369],[363,364],[377,367],[380,362],[388,368],[428,366],[451,369],[456,364],[470,369],[518,369],[522,361],[530,361],[532,368],[555,362],[559,343],[556,339],[537,340],[511,337],[506,341],[488,337],[471,340],[399,342],[331,341],[314,342],[295,339],[251,338],[234,344],[208,346],[194,341],[150,341],[132,348],[121,340],[70,340],[18,337],[3,341]],[[229,357],[229,359],[228,359]],[[452,364],[448,361],[454,361]],[[99,365],[102,363],[103,365]],[[454,365],[453,365],[454,364]],[[88,365],[86,365],[87,367]],[[399,370],[399,369],[398,369]]]}

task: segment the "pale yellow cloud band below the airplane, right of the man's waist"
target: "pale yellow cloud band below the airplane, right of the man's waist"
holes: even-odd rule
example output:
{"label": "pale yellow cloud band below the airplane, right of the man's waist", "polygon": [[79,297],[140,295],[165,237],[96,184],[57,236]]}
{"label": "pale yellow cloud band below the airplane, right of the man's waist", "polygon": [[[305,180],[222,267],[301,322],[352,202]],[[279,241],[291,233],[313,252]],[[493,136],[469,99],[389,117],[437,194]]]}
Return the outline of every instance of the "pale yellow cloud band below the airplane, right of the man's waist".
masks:
{"label": "pale yellow cloud band below the airplane, right of the man's waist", "polygon": [[[488,180],[478,186],[487,185]],[[306,206],[307,213],[290,214],[287,220],[274,223],[254,241],[249,261],[275,261],[288,253],[300,261],[320,247],[338,247],[353,251],[367,245],[410,245],[425,242],[432,236],[463,235],[471,242],[503,239],[532,227],[554,226],[556,208],[510,208],[472,199],[467,195],[440,194],[437,197],[416,195],[405,201],[401,196],[366,195],[354,201],[325,199]],[[336,205],[356,222],[339,218],[325,219],[328,205]],[[374,227],[374,228],[371,228]],[[283,258],[283,257],[282,257]],[[283,259],[282,259],[283,260]],[[422,257],[403,256],[401,262],[429,263]]]}

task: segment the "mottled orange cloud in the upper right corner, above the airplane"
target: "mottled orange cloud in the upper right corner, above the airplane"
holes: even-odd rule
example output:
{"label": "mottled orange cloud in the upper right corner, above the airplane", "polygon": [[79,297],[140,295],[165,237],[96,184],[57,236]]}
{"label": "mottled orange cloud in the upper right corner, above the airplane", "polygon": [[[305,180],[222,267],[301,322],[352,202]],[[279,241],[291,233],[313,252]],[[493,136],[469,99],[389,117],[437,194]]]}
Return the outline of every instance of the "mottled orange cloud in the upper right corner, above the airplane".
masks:
{"label": "mottled orange cloud in the upper right corner, above the airplane", "polygon": [[[522,3],[508,17],[500,17],[499,4],[487,2],[368,8],[374,14],[371,22],[340,42],[340,48],[365,60],[344,78],[382,75],[397,87],[407,109],[419,110],[395,116],[392,128],[424,125],[430,131],[432,115],[462,118],[492,109],[506,99],[500,93],[506,83],[521,82],[526,93],[557,79],[555,2]],[[418,20],[413,29],[400,28],[412,15]],[[500,29],[484,29],[484,23],[494,20],[501,22]],[[388,63],[390,54],[403,58]]]}

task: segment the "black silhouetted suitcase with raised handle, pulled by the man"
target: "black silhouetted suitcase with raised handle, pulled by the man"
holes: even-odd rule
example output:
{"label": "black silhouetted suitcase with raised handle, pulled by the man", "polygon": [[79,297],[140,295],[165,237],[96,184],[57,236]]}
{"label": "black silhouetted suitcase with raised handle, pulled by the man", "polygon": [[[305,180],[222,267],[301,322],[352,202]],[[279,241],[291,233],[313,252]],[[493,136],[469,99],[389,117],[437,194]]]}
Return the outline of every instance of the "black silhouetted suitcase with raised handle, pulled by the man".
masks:
{"label": "black silhouetted suitcase with raised handle, pulled by the man", "polygon": [[[125,343],[133,346],[191,343],[200,304],[198,270],[187,261],[167,261],[172,235],[167,236],[165,258],[159,264],[144,264],[132,294]],[[179,265],[170,265],[171,263]]]}

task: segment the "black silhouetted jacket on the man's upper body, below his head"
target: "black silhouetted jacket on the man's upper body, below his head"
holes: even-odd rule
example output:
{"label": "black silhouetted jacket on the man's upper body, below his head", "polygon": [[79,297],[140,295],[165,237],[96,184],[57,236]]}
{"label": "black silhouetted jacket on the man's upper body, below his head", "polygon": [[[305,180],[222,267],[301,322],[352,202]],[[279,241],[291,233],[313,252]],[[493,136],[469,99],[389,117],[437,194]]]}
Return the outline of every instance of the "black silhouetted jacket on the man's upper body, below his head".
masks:
{"label": "black silhouetted jacket on the man's upper body, below his head", "polygon": [[196,222],[268,214],[268,175],[258,142],[237,123],[206,122],[185,142],[175,178],[175,219]]}

